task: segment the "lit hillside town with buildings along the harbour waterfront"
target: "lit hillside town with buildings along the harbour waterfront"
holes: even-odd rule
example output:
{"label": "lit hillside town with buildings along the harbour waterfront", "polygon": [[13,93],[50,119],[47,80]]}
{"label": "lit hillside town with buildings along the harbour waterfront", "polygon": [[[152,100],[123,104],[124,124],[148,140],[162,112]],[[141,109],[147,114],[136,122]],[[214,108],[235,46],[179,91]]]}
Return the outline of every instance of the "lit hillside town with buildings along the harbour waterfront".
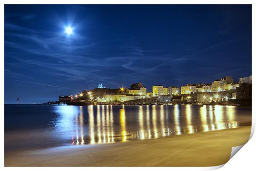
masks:
{"label": "lit hillside town with buildings along the harbour waterfront", "polygon": [[222,102],[224,104],[251,103],[251,75],[234,82],[231,76],[214,80],[212,83],[188,83],[181,87],[154,85],[152,89],[140,83],[132,83],[130,88],[97,88],[80,94],[59,96],[59,102],[72,105],[97,104],[171,104]]}

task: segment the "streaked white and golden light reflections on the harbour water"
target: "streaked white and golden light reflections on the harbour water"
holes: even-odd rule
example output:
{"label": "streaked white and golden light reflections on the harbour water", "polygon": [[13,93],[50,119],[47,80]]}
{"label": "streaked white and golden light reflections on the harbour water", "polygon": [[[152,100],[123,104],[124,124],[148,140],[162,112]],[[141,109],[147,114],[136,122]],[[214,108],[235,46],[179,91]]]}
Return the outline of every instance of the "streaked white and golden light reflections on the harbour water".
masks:
{"label": "streaked white and golden light reflections on the harbour water", "polygon": [[54,127],[71,144],[114,143],[236,128],[235,106],[56,105]]}

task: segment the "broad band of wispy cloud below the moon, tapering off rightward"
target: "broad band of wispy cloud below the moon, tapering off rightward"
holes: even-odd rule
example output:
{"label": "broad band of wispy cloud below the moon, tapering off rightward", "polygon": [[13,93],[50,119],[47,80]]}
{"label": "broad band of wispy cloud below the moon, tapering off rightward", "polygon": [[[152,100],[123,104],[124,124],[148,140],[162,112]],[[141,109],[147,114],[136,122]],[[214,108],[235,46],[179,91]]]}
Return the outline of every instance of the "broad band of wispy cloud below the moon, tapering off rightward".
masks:
{"label": "broad band of wispy cloud below the moon, tapering off rightward", "polygon": [[[5,24],[5,28],[9,37],[5,46],[26,54],[19,56],[10,51],[6,54],[19,61],[17,65],[36,66],[45,75],[61,77],[63,81],[81,81],[86,85],[143,79],[161,73],[162,67],[168,68],[166,71],[172,79],[187,77],[190,71],[181,71],[179,67],[188,64],[192,56],[200,56],[232,41],[220,42],[194,53],[163,54],[158,50],[151,54],[134,41],[124,43],[127,41],[113,39],[100,42],[78,35],[71,39],[63,33],[33,30],[12,23]],[[193,61],[199,59],[194,58]]]}

